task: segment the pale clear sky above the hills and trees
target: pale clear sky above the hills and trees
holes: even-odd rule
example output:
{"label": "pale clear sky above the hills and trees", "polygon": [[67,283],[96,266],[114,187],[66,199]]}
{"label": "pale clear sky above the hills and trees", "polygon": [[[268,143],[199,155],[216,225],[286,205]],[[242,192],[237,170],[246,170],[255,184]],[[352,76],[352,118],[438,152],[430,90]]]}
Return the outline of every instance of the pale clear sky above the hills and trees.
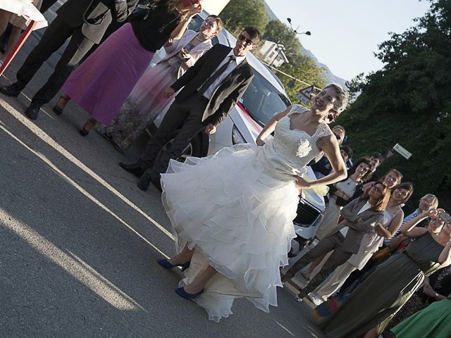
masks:
{"label": "pale clear sky above the hills and trees", "polygon": [[310,36],[299,35],[304,48],[345,80],[381,69],[373,55],[378,44],[389,39],[388,32],[412,27],[430,5],[426,0],[265,1],[283,23],[291,18],[298,32],[309,30]]}

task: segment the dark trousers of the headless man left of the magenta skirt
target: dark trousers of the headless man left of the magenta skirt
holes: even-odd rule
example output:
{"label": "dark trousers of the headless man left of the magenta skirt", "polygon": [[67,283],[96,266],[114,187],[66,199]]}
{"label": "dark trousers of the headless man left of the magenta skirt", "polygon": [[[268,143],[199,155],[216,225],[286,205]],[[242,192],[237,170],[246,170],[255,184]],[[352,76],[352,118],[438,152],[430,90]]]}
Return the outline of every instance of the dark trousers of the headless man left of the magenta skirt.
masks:
{"label": "dark trousers of the headless man left of the magenta skirt", "polygon": [[78,62],[94,45],[94,42],[82,34],[81,25],[75,28],[69,27],[56,16],[42,35],[39,44],[35,46],[35,49],[31,51],[25,63],[18,70],[16,74],[17,84],[20,89],[23,89],[42,66],[42,63],[47,61],[51,54],[54,54],[69,37],[70,42],[58,63],[56,63],[54,73],[33,96],[32,102],[42,105],[53,99]]}

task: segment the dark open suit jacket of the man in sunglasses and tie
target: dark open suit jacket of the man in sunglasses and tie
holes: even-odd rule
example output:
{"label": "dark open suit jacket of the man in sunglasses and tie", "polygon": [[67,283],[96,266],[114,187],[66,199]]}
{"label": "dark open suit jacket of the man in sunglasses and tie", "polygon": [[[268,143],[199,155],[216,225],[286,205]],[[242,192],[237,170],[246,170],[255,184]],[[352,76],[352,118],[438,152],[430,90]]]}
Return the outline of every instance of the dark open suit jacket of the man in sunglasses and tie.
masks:
{"label": "dark open suit jacket of the man in sunglasses and tie", "polygon": [[[207,51],[196,63],[175,81],[171,88],[177,92],[183,89],[175,96],[176,101],[183,101],[191,95],[196,95],[196,91],[204,84],[206,80],[213,75],[214,70],[218,68],[227,54],[232,49],[223,44],[215,44]],[[242,94],[254,77],[254,71],[246,60],[237,65],[229,75],[218,85],[209,103],[206,105],[202,123],[207,125],[212,123],[216,127],[223,122],[230,110],[235,106]]]}

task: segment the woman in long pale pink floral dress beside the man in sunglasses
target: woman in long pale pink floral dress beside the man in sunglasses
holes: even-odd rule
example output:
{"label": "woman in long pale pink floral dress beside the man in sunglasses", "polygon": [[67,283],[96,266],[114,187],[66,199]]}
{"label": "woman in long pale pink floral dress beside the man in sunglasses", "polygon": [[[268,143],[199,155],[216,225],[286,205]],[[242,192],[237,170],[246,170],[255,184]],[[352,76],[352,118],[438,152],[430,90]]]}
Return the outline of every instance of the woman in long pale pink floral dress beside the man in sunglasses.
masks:
{"label": "woman in long pale pink floral dress beside the man in sunglasses", "polygon": [[163,92],[182,76],[213,45],[211,38],[223,29],[217,15],[209,15],[197,34],[187,30],[179,40],[169,39],[164,45],[166,57],[154,67],[148,68],[125,100],[118,116],[104,128],[107,138],[116,150],[126,151],[149,123],[169,103]]}

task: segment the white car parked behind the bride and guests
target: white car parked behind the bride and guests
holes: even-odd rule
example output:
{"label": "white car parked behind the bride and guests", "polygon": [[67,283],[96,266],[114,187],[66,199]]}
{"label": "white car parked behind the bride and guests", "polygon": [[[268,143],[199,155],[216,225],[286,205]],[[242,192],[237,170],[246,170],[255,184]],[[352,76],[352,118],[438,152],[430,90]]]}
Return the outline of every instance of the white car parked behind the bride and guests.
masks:
{"label": "white car parked behind the bride and guests", "polygon": [[[204,18],[208,14],[203,12],[197,15],[190,23],[190,29],[199,30]],[[213,44],[221,43],[226,46],[235,46],[236,39],[227,30],[223,30],[220,35],[212,39]],[[158,62],[164,55],[164,51],[159,51],[152,63]],[[252,54],[247,54],[247,62],[254,69],[254,78],[247,88],[240,101],[230,111],[227,118],[219,125],[216,133],[208,137],[199,133],[190,146],[187,146],[183,156],[179,159],[183,161],[187,156],[208,156],[215,154],[225,146],[232,146],[238,143],[255,143],[262,127],[275,114],[284,111],[290,106],[290,99],[283,89],[283,85],[258,58]],[[169,106],[169,105],[168,105]],[[166,107],[166,110],[168,108]],[[163,119],[164,111],[154,121],[154,127],[158,127]],[[152,133],[152,131],[151,131]],[[316,180],[313,170],[307,167],[307,175],[311,180]],[[301,246],[308,239],[312,239],[316,232],[316,225],[322,219],[324,211],[323,196],[311,190],[303,190],[297,208],[297,218],[295,218],[295,230],[298,239],[292,246],[292,254],[297,253]],[[300,244],[300,245],[299,245]]]}

